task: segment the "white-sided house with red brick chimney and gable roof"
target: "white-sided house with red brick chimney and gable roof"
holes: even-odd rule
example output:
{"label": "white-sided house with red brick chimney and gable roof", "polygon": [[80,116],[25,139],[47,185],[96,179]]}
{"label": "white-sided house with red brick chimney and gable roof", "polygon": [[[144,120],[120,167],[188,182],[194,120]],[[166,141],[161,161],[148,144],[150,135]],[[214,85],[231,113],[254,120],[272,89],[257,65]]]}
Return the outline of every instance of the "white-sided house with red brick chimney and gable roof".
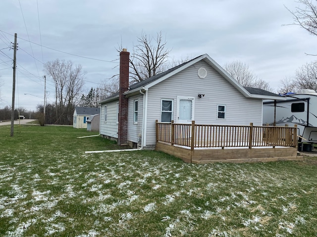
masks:
{"label": "white-sided house with red brick chimney and gable roof", "polygon": [[262,125],[263,99],[277,94],[241,86],[209,55],[129,86],[129,52],[120,53],[120,91],[100,102],[101,131],[119,144],[156,145],[160,122]]}

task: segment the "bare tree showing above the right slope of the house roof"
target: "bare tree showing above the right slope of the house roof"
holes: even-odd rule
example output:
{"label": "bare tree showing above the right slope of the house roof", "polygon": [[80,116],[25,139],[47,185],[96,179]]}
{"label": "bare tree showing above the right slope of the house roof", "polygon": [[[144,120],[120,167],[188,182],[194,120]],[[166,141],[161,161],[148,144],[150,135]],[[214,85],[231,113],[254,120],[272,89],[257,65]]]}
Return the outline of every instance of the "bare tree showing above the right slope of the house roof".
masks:
{"label": "bare tree showing above the right slope of the house roof", "polygon": [[224,65],[224,69],[242,86],[260,88],[267,91],[273,90],[266,81],[258,79],[246,63],[235,60],[230,63],[226,63]]}

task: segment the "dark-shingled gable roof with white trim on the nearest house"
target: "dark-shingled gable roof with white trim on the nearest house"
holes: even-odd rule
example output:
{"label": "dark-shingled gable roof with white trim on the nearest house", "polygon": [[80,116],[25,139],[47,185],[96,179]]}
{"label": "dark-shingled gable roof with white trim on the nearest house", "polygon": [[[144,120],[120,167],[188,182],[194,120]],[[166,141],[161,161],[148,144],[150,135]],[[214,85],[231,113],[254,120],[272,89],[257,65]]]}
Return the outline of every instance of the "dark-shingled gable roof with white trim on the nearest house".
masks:
{"label": "dark-shingled gable roof with white trim on the nearest house", "polygon": [[[150,87],[158,84],[159,82],[175,75],[176,73],[190,67],[191,65],[204,60],[209,64],[214,70],[216,70],[224,79],[226,79],[232,86],[234,86],[240,93],[242,93],[247,98],[257,98],[257,99],[281,99],[278,94],[271,93],[258,88],[244,87],[239,84],[235,79],[233,79],[219,64],[217,64],[208,54],[198,56],[192,60],[189,60],[183,64],[180,64],[174,68],[171,68],[165,72],[159,73],[151,78],[144,79],[142,81],[136,82],[129,86],[129,90],[124,94],[129,95],[135,93],[141,89],[148,90]],[[106,99],[102,100],[100,103],[116,99],[119,97],[119,93],[115,93]],[[277,98],[278,97],[278,98]]]}

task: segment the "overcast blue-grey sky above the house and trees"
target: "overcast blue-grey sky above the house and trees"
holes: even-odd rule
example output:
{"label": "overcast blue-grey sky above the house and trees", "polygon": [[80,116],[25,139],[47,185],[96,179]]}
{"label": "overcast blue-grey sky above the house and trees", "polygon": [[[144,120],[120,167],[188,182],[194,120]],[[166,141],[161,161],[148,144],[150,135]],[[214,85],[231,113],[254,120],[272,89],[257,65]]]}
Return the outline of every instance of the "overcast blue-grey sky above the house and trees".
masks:
{"label": "overcast blue-grey sky above the house and trees", "polygon": [[[1,0],[0,108],[12,100],[13,50],[8,47],[14,33],[15,107],[35,110],[44,103],[43,63],[55,59],[81,64],[86,91],[97,87],[118,74],[118,62],[112,62],[118,45],[131,52],[142,32],[156,36],[161,31],[171,60],[205,53],[220,66],[239,60],[277,91],[281,79],[317,59],[305,54],[317,53],[317,37],[298,26],[282,26],[293,22],[285,6],[298,5],[294,0]],[[53,103],[49,77],[47,91]]]}

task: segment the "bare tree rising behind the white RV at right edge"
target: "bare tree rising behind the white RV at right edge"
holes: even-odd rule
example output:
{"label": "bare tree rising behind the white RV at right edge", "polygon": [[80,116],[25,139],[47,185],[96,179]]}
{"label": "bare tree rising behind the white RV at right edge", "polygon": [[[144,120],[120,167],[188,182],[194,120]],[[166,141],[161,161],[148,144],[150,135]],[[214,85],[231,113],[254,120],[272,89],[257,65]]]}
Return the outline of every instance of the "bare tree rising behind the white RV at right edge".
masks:
{"label": "bare tree rising behind the white RV at right edge", "polygon": [[294,77],[297,89],[313,89],[317,91],[317,61],[307,63],[299,68]]}

